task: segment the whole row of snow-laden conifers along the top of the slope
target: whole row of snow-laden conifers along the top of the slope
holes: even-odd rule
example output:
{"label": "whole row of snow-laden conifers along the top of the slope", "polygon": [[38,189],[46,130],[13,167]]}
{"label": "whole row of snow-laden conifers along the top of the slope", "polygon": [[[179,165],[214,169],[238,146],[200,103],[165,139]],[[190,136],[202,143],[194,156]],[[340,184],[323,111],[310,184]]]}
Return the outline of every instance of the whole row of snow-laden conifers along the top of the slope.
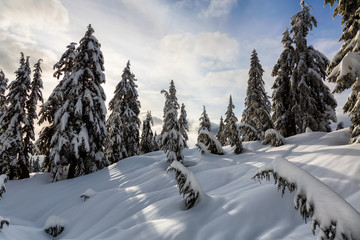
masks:
{"label": "whole row of snow-laden conifers along the top of the slope", "polygon": [[[340,41],[343,46],[330,62],[321,52],[307,44],[307,35],[317,26],[310,14],[310,6],[301,1],[301,11],[290,20],[290,30],[283,33],[283,52],[275,64],[272,76],[272,104],[265,92],[263,72],[254,49],[250,59],[245,109],[240,124],[234,114],[232,96],[225,113],[220,118],[215,137],[204,106],[200,117],[199,142],[212,149],[217,141],[221,145],[235,146],[242,151],[242,141],[262,140],[268,129],[275,129],[284,137],[312,131],[331,131],[331,121],[336,122],[337,103],[324,84],[326,78],[335,83],[333,92],[352,88],[344,105],[351,116],[351,140],[359,142],[359,9],[357,1],[338,2],[334,16],[341,15],[344,25]],[[70,43],[60,60],[54,65],[54,77],[58,84],[36,114],[36,105],[43,102],[41,88],[41,60],[34,65],[31,80],[29,57],[21,53],[16,79],[9,85],[0,71],[0,173],[10,179],[29,177],[30,156],[45,155],[42,170],[51,172],[54,181],[73,178],[102,169],[121,159],[162,149],[167,161],[183,162],[182,150],[187,146],[189,124],[185,105],[177,101],[174,81],[165,96],[163,128],[156,135],[151,112],[143,121],[140,137],[140,101],[135,75],[126,64],[114,97],[105,106],[104,57],[101,44],[93,35],[91,25],[84,37]],[[357,65],[356,65],[357,64]],[[7,94],[5,92],[7,90]],[[107,110],[109,117],[106,118]],[[178,116],[180,111],[180,116]],[[46,123],[35,141],[34,121]],[[275,134],[276,135],[276,134]],[[215,140],[216,139],[216,142]]]}

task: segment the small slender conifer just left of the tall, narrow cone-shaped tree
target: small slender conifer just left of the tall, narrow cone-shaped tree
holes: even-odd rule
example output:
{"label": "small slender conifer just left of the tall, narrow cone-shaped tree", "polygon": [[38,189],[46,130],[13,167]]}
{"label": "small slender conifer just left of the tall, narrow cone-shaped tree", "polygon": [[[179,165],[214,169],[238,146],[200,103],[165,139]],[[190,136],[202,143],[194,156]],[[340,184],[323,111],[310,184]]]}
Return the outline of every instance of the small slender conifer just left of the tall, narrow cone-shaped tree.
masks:
{"label": "small slender conifer just left of the tall, narrow cone-shaped tree", "polygon": [[224,136],[226,139],[226,144],[230,144],[231,146],[235,146],[238,141],[241,141],[239,137],[239,131],[236,127],[236,122],[238,121],[238,119],[234,114],[234,108],[235,106],[232,102],[232,97],[230,95],[229,105],[225,113]]}

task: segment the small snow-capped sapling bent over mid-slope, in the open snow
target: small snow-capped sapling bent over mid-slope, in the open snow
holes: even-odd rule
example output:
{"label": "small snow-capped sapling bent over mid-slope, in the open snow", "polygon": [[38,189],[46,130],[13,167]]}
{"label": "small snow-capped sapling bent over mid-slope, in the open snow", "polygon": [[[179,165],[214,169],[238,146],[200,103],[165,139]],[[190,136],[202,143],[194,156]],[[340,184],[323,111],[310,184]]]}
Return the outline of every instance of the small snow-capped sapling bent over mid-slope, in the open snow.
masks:
{"label": "small snow-capped sapling bent over mid-slope, in the open snow", "polygon": [[174,171],[179,194],[185,197],[185,209],[192,208],[205,195],[195,175],[182,163],[173,161],[166,172]]}

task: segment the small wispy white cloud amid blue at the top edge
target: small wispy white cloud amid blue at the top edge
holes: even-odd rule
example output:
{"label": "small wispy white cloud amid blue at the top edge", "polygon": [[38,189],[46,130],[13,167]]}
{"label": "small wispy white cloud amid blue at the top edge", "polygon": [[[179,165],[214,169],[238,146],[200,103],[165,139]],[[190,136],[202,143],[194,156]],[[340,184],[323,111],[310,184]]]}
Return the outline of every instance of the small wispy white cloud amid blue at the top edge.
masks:
{"label": "small wispy white cloud amid blue at the top edge", "polygon": [[209,6],[199,13],[200,18],[221,17],[227,15],[236,4],[236,0],[210,0]]}

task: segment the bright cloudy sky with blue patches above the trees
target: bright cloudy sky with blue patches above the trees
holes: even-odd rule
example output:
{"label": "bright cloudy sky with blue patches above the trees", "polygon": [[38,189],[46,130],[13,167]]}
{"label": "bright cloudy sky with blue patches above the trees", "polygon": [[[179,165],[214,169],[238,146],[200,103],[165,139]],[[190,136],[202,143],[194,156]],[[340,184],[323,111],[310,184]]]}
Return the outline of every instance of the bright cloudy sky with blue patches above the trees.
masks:
{"label": "bright cloudy sky with blue patches above the trees", "polygon": [[[341,46],[341,18],[333,18],[333,9],[323,1],[307,3],[318,21],[308,44],[331,60]],[[160,91],[174,80],[193,130],[203,106],[218,124],[230,94],[241,119],[253,49],[271,96],[271,70],[283,50],[282,33],[301,10],[295,0],[0,0],[0,6],[0,68],[10,81],[20,52],[30,56],[32,66],[41,58],[47,99],[58,83],[53,65],[91,24],[105,59],[107,103],[130,60],[138,80],[141,120],[151,111],[160,123],[165,102]],[[345,121],[345,126],[349,124],[342,106],[347,94],[335,95],[338,122]],[[159,126],[155,130],[159,132]]]}

